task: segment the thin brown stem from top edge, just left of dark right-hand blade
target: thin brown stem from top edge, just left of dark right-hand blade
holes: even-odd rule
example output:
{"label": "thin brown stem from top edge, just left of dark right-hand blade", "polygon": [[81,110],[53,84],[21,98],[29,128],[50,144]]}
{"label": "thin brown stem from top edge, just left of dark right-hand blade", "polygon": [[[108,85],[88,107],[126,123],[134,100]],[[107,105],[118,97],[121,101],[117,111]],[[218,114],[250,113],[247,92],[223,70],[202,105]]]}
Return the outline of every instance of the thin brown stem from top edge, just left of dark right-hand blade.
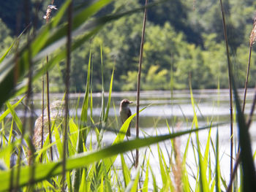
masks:
{"label": "thin brown stem from top edge, just left of dark right-hand blade", "polygon": [[[233,172],[233,94],[232,94],[232,66],[230,61],[230,52],[228,49],[228,42],[227,42],[227,28],[225,22],[225,14],[222,5],[222,0],[219,0],[221,11],[222,11],[222,24],[224,30],[224,37],[225,37],[225,45],[227,51],[227,68],[228,68],[228,80],[229,80],[229,89],[230,89],[230,180],[232,177]],[[231,189],[232,191],[232,189]]]}

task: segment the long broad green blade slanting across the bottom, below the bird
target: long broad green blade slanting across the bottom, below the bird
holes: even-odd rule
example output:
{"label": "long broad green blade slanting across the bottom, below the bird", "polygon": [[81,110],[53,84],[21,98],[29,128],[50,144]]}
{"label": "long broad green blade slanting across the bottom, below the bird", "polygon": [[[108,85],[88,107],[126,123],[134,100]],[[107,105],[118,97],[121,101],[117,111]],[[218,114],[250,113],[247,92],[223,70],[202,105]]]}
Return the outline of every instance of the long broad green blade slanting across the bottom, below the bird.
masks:
{"label": "long broad green blade slanting across the bottom, below the bird", "polygon": [[[106,160],[110,157],[112,158],[114,155],[118,155],[119,153],[125,153],[129,150],[135,150],[136,148],[146,147],[148,145],[152,145],[157,142],[162,142],[167,139],[173,139],[175,137],[179,137],[184,134],[205,130],[207,128],[208,126],[203,128],[192,129],[188,131],[181,131],[174,134],[165,134],[162,136],[147,137],[143,139],[133,139],[127,142],[120,142],[116,145],[111,145],[110,147],[105,147],[104,149],[98,150],[93,153],[82,153],[75,157],[67,158],[67,171],[70,171],[72,169],[78,169],[80,167],[89,166],[90,164],[96,161],[100,161],[102,159]],[[29,166],[23,166],[20,168],[20,181],[19,181],[20,186],[23,186],[29,183],[29,179],[30,179],[29,171],[30,171]],[[35,166],[35,172],[34,172],[34,183],[59,175],[61,174],[61,172],[62,172],[61,161],[50,162],[48,164],[37,164]],[[10,176],[11,176],[10,170],[0,172],[0,183],[1,183],[0,191],[8,190],[8,188],[10,187]]]}

